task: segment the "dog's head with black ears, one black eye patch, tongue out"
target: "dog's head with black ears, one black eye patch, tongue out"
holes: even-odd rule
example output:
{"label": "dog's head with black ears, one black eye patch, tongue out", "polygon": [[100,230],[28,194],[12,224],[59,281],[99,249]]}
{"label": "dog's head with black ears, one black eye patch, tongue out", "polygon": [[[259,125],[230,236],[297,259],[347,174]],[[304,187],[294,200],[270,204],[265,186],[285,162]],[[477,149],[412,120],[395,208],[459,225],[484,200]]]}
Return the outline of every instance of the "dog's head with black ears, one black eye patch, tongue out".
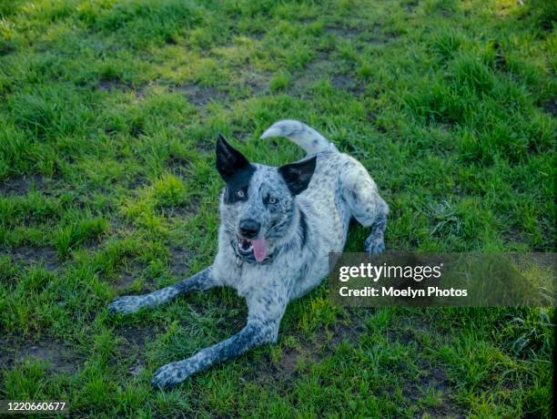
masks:
{"label": "dog's head with black ears, one black eye patch, tongue out", "polygon": [[280,168],[252,164],[218,136],[217,169],[227,183],[221,221],[240,259],[265,261],[293,233],[295,197],[308,188],[315,164],[315,157]]}

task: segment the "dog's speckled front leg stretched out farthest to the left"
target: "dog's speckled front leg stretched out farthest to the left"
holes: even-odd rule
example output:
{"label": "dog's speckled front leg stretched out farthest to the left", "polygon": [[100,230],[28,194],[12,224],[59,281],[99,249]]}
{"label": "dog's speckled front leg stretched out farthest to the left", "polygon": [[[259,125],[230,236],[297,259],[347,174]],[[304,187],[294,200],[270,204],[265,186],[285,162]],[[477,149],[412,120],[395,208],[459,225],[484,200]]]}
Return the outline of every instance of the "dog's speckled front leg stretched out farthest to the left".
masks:
{"label": "dog's speckled front leg stretched out farthest to the left", "polygon": [[108,310],[113,313],[122,312],[124,314],[131,314],[138,312],[144,307],[156,307],[167,301],[174,300],[179,294],[189,291],[205,291],[217,285],[218,281],[214,278],[213,268],[209,266],[205,270],[187,278],[187,280],[177,282],[161,290],[145,295],[127,295],[116,298],[116,300],[110,303]]}

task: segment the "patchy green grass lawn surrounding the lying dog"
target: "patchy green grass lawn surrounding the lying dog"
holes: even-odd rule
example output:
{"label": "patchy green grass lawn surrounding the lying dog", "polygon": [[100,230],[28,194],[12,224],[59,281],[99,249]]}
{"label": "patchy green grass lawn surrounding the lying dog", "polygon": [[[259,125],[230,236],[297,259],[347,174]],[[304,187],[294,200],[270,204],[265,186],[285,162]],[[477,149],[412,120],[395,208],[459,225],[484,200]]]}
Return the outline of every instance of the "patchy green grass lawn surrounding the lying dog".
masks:
{"label": "patchy green grass lawn surrounding the lying dog", "polygon": [[[550,417],[553,309],[293,302],[277,346],[161,393],[156,369],[238,332],[234,291],[111,317],[217,246],[222,132],[280,118],[359,158],[391,250],[554,251],[557,36],[524,0],[0,3],[0,399],[80,417]],[[355,226],[347,250],[366,231]]]}

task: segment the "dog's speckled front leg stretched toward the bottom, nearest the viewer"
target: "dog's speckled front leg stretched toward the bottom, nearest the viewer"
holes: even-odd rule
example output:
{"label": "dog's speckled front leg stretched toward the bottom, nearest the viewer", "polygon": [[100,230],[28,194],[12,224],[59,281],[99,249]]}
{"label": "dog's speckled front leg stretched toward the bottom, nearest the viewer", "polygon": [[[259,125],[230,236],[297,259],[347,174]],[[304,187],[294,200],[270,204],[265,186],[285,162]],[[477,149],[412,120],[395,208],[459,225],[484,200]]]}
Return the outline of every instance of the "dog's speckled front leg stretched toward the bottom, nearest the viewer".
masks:
{"label": "dog's speckled front leg stretched toward the bottom, nearest the viewer", "polygon": [[[211,365],[236,358],[263,343],[277,342],[286,301],[269,301],[268,297],[263,297],[256,301],[255,309],[249,302],[248,299],[248,324],[238,334],[199,351],[190,358],[167,363],[157,370],[151,383],[156,387],[169,388]],[[262,311],[262,308],[266,311]]]}

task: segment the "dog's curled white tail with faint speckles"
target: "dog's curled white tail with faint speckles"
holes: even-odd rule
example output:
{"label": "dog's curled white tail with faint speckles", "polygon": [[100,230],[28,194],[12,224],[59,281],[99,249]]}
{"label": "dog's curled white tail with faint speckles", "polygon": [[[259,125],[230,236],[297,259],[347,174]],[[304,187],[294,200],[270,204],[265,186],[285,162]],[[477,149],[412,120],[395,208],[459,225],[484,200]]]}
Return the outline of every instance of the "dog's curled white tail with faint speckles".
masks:
{"label": "dog's curled white tail with faint speckles", "polygon": [[308,154],[316,154],[321,151],[339,151],[333,143],[315,129],[292,119],[275,122],[261,136],[263,139],[273,137],[289,138],[306,150]]}

